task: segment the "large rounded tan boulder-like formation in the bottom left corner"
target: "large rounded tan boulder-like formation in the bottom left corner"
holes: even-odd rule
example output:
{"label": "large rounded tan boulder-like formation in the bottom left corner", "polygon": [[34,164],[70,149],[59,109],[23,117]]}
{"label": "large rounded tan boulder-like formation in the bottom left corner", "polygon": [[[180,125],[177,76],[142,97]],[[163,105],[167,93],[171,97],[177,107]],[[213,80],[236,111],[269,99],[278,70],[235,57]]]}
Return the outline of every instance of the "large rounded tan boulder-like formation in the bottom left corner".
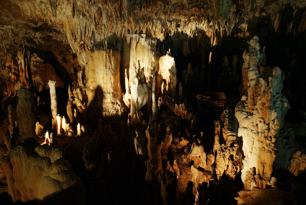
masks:
{"label": "large rounded tan boulder-like formation in the bottom left corner", "polygon": [[[19,144],[11,149],[2,162],[13,201],[52,201],[85,204],[85,190],[69,161],[62,158],[60,149]],[[30,191],[31,190],[31,191]],[[65,199],[52,196],[61,192]],[[78,193],[75,195],[75,193]],[[76,198],[75,198],[76,197]]]}

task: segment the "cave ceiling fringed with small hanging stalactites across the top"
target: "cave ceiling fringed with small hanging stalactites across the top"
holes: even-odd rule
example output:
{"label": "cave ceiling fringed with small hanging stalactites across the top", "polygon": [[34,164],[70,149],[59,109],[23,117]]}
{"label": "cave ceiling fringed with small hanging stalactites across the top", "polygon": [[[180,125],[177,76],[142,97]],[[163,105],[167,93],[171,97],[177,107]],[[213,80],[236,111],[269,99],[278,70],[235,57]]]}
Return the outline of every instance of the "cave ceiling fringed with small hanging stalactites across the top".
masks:
{"label": "cave ceiling fringed with small hanging stalactites across the top", "polygon": [[306,30],[303,0],[5,0],[0,7],[4,51],[12,45],[41,47],[60,41],[78,52],[133,34],[159,40],[185,34],[216,45],[222,35],[244,36],[241,33],[262,21],[275,31],[280,23],[288,33]]}

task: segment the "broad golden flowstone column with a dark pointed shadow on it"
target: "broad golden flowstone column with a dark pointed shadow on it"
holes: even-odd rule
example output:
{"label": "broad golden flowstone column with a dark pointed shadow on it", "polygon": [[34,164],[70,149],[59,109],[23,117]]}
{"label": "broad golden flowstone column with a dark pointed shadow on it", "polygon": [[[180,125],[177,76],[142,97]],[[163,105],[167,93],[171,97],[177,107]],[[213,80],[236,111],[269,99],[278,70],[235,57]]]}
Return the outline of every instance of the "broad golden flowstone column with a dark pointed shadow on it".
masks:
{"label": "broad golden flowstone column with a dark pointed shadow on it", "polygon": [[86,49],[84,55],[87,59],[84,79],[84,92],[88,98],[86,118],[98,120],[101,116],[120,115],[123,109],[119,51],[108,47],[95,52]]}

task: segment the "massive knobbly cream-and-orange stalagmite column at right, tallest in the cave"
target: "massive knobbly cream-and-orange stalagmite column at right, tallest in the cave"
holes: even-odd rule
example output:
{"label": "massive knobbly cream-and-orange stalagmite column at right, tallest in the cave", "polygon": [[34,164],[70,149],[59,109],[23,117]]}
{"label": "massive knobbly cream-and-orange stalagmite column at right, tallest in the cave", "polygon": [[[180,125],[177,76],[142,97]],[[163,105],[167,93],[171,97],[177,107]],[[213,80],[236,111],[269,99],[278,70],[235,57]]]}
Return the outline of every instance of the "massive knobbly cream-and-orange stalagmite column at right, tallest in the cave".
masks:
{"label": "massive knobbly cream-and-orange stalagmite column at right, tallest in the cave", "polygon": [[279,67],[264,67],[265,55],[259,52],[258,40],[257,36],[252,38],[248,51],[244,51],[243,96],[235,108],[245,155],[241,170],[245,189],[270,184],[277,154],[274,143],[290,108],[281,93],[283,71]]}

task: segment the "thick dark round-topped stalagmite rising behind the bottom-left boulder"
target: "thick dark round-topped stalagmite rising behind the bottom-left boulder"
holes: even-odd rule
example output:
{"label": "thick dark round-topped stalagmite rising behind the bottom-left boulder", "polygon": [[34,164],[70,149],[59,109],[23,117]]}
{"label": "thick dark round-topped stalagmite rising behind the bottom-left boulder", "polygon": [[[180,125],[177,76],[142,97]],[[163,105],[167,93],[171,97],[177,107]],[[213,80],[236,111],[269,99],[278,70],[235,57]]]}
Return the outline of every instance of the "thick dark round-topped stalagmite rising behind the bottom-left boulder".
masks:
{"label": "thick dark round-topped stalagmite rising behind the bottom-left boulder", "polygon": [[32,92],[28,88],[20,88],[16,107],[19,137],[15,144],[18,142],[24,142],[24,140],[29,137],[36,139],[34,106]]}

